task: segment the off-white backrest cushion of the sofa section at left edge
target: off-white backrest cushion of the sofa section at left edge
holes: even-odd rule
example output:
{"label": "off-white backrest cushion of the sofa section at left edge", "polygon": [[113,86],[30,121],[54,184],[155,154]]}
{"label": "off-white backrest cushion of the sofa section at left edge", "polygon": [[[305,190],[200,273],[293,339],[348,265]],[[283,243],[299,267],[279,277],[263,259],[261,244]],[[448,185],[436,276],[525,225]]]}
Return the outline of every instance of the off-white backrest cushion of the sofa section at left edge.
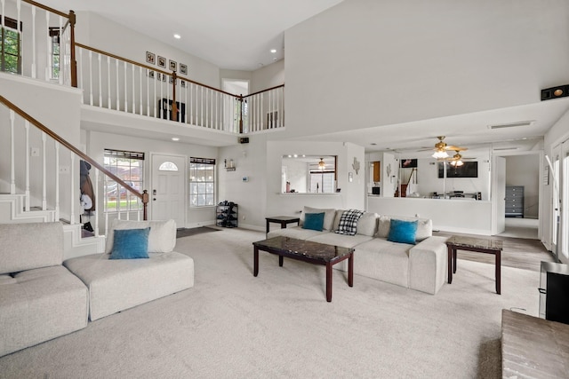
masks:
{"label": "off-white backrest cushion of the sofa section at left edge", "polygon": [[59,223],[0,224],[0,273],[61,265],[63,226]]}

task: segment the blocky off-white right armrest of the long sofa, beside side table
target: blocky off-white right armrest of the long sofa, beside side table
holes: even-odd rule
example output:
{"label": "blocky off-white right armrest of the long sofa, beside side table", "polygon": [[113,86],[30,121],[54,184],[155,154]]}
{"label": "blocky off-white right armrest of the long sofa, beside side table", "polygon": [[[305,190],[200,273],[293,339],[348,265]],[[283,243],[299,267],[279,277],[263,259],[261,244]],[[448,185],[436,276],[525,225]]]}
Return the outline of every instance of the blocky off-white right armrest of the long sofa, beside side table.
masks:
{"label": "blocky off-white right armrest of the long sofa, beside side table", "polygon": [[431,236],[409,250],[409,288],[435,295],[445,283],[447,237]]}

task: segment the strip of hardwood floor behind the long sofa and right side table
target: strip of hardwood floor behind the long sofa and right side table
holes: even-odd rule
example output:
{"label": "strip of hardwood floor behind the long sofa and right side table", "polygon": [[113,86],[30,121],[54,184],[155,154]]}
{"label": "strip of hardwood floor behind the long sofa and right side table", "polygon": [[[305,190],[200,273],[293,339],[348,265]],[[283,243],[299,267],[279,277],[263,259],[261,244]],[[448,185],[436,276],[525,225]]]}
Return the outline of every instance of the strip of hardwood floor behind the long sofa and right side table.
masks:
{"label": "strip of hardwood floor behind the long sofa and right side table", "polygon": [[[482,237],[474,234],[433,232],[433,235],[450,237],[451,235],[468,235],[471,237]],[[503,250],[501,253],[501,265],[508,267],[521,268],[525,270],[540,271],[541,261],[555,262],[554,256],[543,246],[541,241],[513,238],[502,236],[484,236],[493,240],[501,240]],[[494,263],[494,256],[491,254],[474,253],[469,251],[458,251],[459,259],[468,259],[476,262],[488,264]]]}

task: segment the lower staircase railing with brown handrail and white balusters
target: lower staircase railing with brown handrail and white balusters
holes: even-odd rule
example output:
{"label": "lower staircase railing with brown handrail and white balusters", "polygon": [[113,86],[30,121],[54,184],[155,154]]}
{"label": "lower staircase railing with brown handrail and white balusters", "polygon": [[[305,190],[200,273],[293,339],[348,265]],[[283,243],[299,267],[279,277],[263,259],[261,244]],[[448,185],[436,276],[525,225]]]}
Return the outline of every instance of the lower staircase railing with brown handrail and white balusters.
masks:
{"label": "lower staircase railing with brown handrail and white balusters", "polygon": [[[129,186],[128,184],[126,184],[121,178],[118,178],[115,174],[113,174],[112,172],[110,172],[109,170],[105,169],[103,166],[100,165],[99,162],[94,161],[91,157],[89,157],[87,154],[84,154],[81,150],[79,150],[78,148],[76,148],[76,146],[73,146],[72,144],[70,144],[66,139],[61,138],[57,133],[55,133],[54,131],[50,130],[48,127],[46,127],[42,122],[37,121],[34,117],[32,117],[31,115],[29,115],[28,113],[26,113],[24,110],[22,110],[20,107],[16,106],[15,104],[13,104],[11,101],[9,101],[8,99],[5,99],[3,96],[0,96],[0,103],[4,104],[5,107],[8,108],[9,110],[9,114],[10,114],[10,179],[9,179],[9,187],[10,187],[10,193],[12,194],[16,194],[18,192],[18,188],[20,188],[20,191],[22,191],[23,193],[25,193],[25,210],[29,211],[30,210],[30,204],[31,204],[31,194],[30,194],[30,162],[29,162],[29,155],[28,152],[30,152],[31,154],[35,154],[33,151],[30,151],[30,146],[29,146],[29,125],[33,125],[36,127],[37,130],[39,130],[41,132],[41,140],[42,140],[42,149],[41,149],[41,154],[42,154],[42,167],[41,167],[41,175],[42,175],[42,179],[41,179],[41,183],[42,183],[42,189],[41,191],[37,191],[36,190],[36,197],[41,197],[41,202],[42,202],[42,210],[47,210],[48,209],[48,198],[47,198],[47,176],[48,176],[48,171],[46,168],[46,162],[48,161],[47,158],[47,153],[48,153],[48,149],[47,149],[47,142],[46,139],[47,137],[50,137],[53,139],[54,141],[54,146],[53,146],[53,150],[52,153],[50,155],[50,157],[52,158],[52,162],[54,162],[53,164],[53,171],[52,171],[52,176],[50,175],[50,178],[53,180],[53,187],[54,187],[54,195],[53,197],[50,199],[52,201],[53,204],[53,209],[55,210],[55,220],[59,220],[60,219],[60,192],[62,191],[62,188],[60,188],[60,146],[64,146],[68,149],[68,151],[70,152],[69,154],[69,174],[70,174],[70,180],[69,180],[69,188],[68,191],[68,196],[69,196],[69,209],[68,209],[68,217],[69,217],[69,223],[70,224],[76,224],[76,218],[77,218],[77,212],[76,209],[78,209],[79,207],[76,205],[79,204],[79,197],[76,196],[76,193],[78,193],[78,178],[79,175],[76,174],[76,157],[78,157],[79,159],[84,160],[85,162],[89,162],[92,167],[94,167],[95,169],[97,169],[95,171],[95,180],[94,183],[96,184],[94,186],[94,191],[95,191],[95,199],[99,200],[100,196],[99,194],[99,186],[97,185],[99,183],[99,175],[100,173],[102,173],[103,175],[107,176],[108,178],[111,178],[112,180],[116,181],[117,183],[117,188],[118,186],[122,186],[126,189],[126,191],[132,193],[133,196],[135,196],[138,201],[141,202],[142,204],[142,219],[143,220],[147,220],[148,219],[148,192],[147,190],[144,190],[142,193],[139,193],[136,189],[132,188],[132,186]],[[16,130],[15,130],[15,125],[16,125],[16,114],[20,116],[21,119],[23,119],[24,121],[24,127],[25,127],[25,141],[23,143],[19,143],[18,147],[24,146],[24,148],[21,148],[21,150],[23,150],[24,152],[24,160],[25,162],[22,164],[21,163],[21,159],[20,156],[16,156],[16,151],[18,150],[17,148],[17,144],[16,144]],[[36,152],[37,155],[40,154],[39,151]],[[4,156],[3,156],[4,159]],[[20,186],[18,186],[17,183],[17,171],[20,172],[19,170],[16,170],[15,167],[15,162],[19,162],[20,167],[23,165],[25,167],[25,178],[23,180],[24,183],[21,184]],[[37,170],[35,171],[37,173]],[[19,174],[19,177],[21,177],[21,175]],[[23,188],[23,190],[22,190]],[[96,201],[97,203],[101,204],[102,201]],[[126,218],[128,219],[130,216],[130,213],[132,212],[132,209],[127,209],[126,211],[120,211],[118,217],[120,217],[121,213],[126,213]],[[140,210],[134,210],[139,214],[139,219],[140,219]],[[94,233],[95,236],[99,235],[99,217],[98,217],[98,212],[95,212],[95,225],[93,227],[94,229]],[[106,220],[108,221],[108,220]],[[107,222],[106,222],[107,224]],[[105,231],[107,231],[108,229],[108,225],[105,225]]]}

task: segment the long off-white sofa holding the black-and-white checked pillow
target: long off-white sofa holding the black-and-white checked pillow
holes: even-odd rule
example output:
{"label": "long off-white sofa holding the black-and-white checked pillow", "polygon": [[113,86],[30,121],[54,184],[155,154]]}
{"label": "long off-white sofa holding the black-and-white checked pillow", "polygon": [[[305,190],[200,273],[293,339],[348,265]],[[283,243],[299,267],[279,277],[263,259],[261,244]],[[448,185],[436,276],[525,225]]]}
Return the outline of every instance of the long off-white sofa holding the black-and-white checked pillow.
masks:
{"label": "long off-white sofa holding the black-and-white checked pillow", "polygon": [[[323,230],[303,228],[304,215],[325,213]],[[338,229],[342,209],[304,207],[301,225],[270,231],[268,238],[283,235],[346,248],[354,248],[354,273],[383,280],[405,288],[437,294],[445,283],[447,249],[445,237],[432,235],[432,221],[418,217],[379,216],[365,212],[357,221],[356,235],[334,233]],[[388,241],[391,219],[417,221],[416,244]],[[342,262],[334,268],[347,270]]]}

